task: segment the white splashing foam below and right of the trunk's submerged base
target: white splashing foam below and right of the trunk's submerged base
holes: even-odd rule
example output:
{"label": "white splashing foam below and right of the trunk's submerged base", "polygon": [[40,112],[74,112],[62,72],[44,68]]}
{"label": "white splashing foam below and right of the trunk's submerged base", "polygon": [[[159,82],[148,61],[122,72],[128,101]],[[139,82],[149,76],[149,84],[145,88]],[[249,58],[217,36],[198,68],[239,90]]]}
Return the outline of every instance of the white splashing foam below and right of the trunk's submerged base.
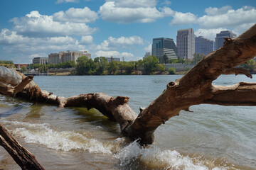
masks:
{"label": "white splashing foam below and right of the trunk's submerged base", "polygon": [[[224,170],[229,169],[228,167],[213,167],[208,168],[203,162],[183,156],[177,151],[171,151],[169,149],[161,150],[159,147],[141,147],[138,142],[132,142],[127,147],[124,147],[114,157],[119,159],[122,167],[129,166],[134,160],[139,160],[146,166],[151,166],[152,169],[183,169],[183,170]],[[209,164],[206,163],[206,164]],[[212,162],[213,166],[213,162]]]}

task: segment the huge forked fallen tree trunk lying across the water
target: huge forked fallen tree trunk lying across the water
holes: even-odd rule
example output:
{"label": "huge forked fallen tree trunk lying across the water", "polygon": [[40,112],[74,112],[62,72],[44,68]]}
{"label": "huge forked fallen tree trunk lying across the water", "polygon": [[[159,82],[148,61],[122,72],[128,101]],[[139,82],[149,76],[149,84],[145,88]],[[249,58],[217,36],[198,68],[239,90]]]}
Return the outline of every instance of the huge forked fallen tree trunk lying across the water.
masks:
{"label": "huge forked fallen tree trunk lying across the water", "polygon": [[[139,115],[128,105],[129,98],[113,98],[106,94],[80,94],[70,98],[55,96],[41,90],[32,81],[17,73],[8,79],[0,78],[0,92],[6,96],[26,98],[30,101],[50,103],[60,107],[97,108],[102,114],[120,125],[122,135],[140,139],[142,144],[154,142],[154,131],[181,110],[201,103],[223,106],[256,106],[256,84],[241,82],[233,86],[214,86],[212,82],[221,74],[245,74],[246,69],[235,68],[256,56],[256,25],[235,40],[228,38],[215,52],[206,55],[193,69],[175,82],[169,82],[166,90]],[[0,67],[0,72],[3,72]],[[2,74],[0,74],[1,77]],[[10,84],[21,76],[21,81]],[[19,87],[18,87],[19,86]],[[21,87],[24,87],[23,89]]]}

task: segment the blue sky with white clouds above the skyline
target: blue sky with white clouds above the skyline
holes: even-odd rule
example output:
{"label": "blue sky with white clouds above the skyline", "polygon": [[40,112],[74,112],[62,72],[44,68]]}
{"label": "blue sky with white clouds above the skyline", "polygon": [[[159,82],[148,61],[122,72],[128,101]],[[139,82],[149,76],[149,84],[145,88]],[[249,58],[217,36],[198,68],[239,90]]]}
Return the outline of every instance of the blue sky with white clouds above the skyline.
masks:
{"label": "blue sky with white clouds above the skyline", "polygon": [[153,38],[176,42],[179,29],[215,40],[255,23],[255,0],[0,0],[0,60],[30,64],[66,50],[140,60]]}

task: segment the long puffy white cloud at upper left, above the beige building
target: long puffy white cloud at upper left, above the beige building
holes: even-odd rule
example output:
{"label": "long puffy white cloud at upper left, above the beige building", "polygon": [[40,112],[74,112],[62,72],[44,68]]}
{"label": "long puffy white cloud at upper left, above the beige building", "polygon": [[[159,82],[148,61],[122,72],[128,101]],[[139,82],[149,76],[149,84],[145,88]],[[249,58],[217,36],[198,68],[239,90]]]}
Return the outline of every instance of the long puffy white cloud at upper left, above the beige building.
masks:
{"label": "long puffy white cloud at upper left, above the beige building", "polygon": [[31,11],[21,18],[13,18],[14,30],[21,35],[31,37],[59,35],[90,35],[96,28],[90,28],[85,23],[57,22],[53,16],[44,16],[38,11]]}

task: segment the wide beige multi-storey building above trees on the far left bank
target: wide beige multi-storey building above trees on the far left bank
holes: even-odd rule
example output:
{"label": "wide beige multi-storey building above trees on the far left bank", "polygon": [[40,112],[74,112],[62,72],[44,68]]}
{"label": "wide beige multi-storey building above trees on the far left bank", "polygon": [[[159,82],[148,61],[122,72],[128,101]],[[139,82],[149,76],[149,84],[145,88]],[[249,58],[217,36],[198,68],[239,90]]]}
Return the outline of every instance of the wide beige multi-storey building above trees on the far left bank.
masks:
{"label": "wide beige multi-storey building above trees on the far left bank", "polygon": [[75,61],[75,63],[78,60],[78,57],[81,56],[87,56],[88,58],[91,58],[91,54],[87,51],[72,51],[68,50],[65,52],[59,52],[59,53],[52,53],[48,55],[48,61],[49,64],[59,64],[60,62],[68,62],[68,61]]}

